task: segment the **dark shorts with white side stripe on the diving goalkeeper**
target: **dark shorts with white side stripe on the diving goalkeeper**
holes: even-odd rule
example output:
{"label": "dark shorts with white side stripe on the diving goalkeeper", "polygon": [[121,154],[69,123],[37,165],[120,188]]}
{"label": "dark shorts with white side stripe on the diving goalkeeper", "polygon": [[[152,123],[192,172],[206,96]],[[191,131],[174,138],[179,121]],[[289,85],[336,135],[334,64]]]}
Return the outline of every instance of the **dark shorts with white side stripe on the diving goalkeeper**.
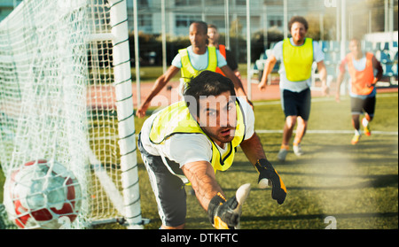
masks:
{"label": "dark shorts with white side stripe on the diving goalkeeper", "polygon": [[137,147],[145,163],[150,178],[153,193],[158,205],[160,220],[164,226],[177,227],[185,223],[186,216],[186,193],[184,182],[169,169],[182,170],[176,162],[165,158],[165,165],[160,156],[153,156],[145,151],[140,141],[141,133],[138,135]]}

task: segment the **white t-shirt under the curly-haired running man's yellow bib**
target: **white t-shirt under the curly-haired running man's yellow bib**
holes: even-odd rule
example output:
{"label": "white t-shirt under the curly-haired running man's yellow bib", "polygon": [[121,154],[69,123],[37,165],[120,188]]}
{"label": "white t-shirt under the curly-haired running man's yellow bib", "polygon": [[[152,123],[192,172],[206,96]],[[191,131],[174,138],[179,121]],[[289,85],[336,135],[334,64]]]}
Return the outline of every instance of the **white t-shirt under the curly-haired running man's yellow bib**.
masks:
{"label": "white t-shirt under the curly-haired running man's yellow bib", "polygon": [[[293,38],[290,38],[291,44],[293,44]],[[293,44],[295,46],[295,44]],[[286,67],[284,66],[283,59],[283,41],[276,43],[272,50],[272,55],[280,62],[278,73],[280,74],[280,89],[287,89],[293,92],[301,92],[304,89],[308,89],[311,85],[311,78],[306,81],[288,81],[286,79]],[[313,41],[313,61],[320,62],[325,59],[325,53],[321,50],[318,42]]]}

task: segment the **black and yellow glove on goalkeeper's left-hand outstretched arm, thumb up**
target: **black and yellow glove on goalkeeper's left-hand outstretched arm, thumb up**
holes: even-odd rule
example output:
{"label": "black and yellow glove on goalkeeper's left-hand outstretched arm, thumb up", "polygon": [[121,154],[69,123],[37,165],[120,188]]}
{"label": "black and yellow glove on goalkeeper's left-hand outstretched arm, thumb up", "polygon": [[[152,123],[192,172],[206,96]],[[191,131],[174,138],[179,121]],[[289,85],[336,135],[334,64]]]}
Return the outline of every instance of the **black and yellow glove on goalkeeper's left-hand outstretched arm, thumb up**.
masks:
{"label": "black and yellow glove on goalkeeper's left-hand outstretched arm, thumb up", "polygon": [[239,228],[241,207],[249,195],[250,184],[246,183],[237,189],[236,195],[226,200],[221,193],[217,193],[207,206],[209,221],[216,229]]}

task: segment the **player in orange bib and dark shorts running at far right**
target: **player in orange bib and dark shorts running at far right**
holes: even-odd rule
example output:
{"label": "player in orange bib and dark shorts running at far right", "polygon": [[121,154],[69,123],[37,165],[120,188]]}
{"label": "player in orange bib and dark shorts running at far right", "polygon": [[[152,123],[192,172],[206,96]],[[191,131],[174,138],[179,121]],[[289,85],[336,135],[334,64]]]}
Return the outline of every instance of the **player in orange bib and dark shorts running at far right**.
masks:
{"label": "player in orange bib and dark shorts running at far right", "polygon": [[[371,52],[364,52],[360,40],[353,38],[349,42],[350,53],[340,63],[340,73],[337,78],[337,93],[335,99],[340,102],[340,84],[346,71],[350,76],[349,96],[352,112],[352,126],[355,128],[355,135],[351,143],[356,145],[359,142],[360,115],[365,112],[362,120],[364,135],[372,135],[369,123],[374,117],[377,90],[375,84],[382,77],[383,69],[377,58]],[[376,72],[376,73],[375,73]]]}

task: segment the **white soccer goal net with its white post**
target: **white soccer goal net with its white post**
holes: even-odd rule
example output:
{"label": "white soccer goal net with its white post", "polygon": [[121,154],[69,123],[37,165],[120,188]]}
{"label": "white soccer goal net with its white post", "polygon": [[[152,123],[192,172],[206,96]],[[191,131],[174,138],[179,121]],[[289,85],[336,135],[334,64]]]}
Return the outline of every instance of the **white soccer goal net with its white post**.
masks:
{"label": "white soccer goal net with its white post", "polygon": [[42,158],[70,169],[72,228],[142,228],[133,116],[126,1],[25,0],[0,23],[3,173]]}

